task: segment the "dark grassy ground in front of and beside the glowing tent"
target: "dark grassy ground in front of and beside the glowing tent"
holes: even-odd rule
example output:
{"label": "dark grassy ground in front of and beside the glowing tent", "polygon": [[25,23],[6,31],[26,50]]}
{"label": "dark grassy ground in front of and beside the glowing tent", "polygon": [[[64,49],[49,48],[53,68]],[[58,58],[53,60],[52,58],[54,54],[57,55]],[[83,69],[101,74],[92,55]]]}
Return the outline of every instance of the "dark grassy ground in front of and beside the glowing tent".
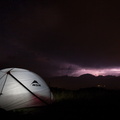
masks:
{"label": "dark grassy ground in front of and beside the glowing tent", "polygon": [[85,88],[76,91],[51,88],[55,102],[43,107],[2,111],[13,120],[103,120],[119,119],[120,91]]}

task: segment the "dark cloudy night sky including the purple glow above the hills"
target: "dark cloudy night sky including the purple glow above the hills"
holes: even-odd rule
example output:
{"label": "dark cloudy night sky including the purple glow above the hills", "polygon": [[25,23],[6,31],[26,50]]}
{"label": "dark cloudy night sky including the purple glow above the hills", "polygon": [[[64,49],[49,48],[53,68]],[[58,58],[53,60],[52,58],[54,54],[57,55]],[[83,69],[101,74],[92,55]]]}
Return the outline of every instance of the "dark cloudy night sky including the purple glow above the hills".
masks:
{"label": "dark cloudy night sky including the purple glow above the hills", "polygon": [[43,76],[120,75],[120,7],[110,0],[1,0],[0,69]]}

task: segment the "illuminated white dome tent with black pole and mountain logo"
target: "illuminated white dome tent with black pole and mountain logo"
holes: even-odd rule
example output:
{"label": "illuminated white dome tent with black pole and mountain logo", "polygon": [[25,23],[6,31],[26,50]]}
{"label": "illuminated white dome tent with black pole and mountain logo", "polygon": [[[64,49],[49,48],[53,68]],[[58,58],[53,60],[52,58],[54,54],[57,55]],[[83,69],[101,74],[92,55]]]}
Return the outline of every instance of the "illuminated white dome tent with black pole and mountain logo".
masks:
{"label": "illuminated white dome tent with black pole and mountain logo", "polygon": [[21,68],[0,70],[0,108],[43,106],[51,103],[53,94],[36,73]]}

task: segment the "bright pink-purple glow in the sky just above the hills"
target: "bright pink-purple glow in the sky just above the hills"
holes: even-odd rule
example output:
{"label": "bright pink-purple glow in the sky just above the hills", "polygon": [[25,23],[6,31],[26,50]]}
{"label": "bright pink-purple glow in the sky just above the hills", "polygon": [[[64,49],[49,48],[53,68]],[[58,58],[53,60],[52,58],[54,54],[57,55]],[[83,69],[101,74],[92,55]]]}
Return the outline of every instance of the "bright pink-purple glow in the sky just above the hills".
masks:
{"label": "bright pink-purple glow in the sky just above the hills", "polygon": [[[64,66],[64,67],[63,67]],[[61,69],[58,71],[58,74],[68,75],[78,77],[83,74],[92,74],[94,76],[120,76],[120,68],[119,67],[111,67],[111,68],[83,68],[74,64],[64,64]]]}

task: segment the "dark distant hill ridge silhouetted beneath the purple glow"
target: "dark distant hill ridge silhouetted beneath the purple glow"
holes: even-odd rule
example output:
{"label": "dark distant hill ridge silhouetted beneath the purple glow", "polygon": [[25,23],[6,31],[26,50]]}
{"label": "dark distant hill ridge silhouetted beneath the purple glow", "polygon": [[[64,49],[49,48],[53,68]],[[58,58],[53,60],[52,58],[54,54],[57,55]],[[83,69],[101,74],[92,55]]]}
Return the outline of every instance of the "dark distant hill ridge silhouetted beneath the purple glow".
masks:
{"label": "dark distant hill ridge silhouetted beneath the purple glow", "polygon": [[94,76],[83,74],[79,77],[56,76],[45,78],[50,87],[64,89],[80,89],[90,87],[104,87],[107,89],[120,89],[120,76]]}

